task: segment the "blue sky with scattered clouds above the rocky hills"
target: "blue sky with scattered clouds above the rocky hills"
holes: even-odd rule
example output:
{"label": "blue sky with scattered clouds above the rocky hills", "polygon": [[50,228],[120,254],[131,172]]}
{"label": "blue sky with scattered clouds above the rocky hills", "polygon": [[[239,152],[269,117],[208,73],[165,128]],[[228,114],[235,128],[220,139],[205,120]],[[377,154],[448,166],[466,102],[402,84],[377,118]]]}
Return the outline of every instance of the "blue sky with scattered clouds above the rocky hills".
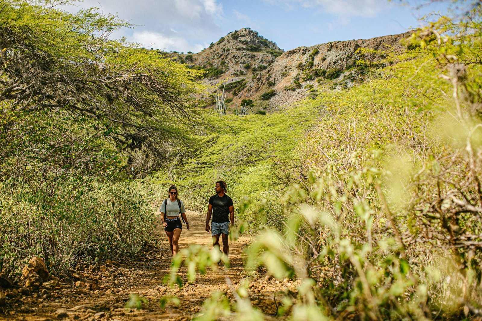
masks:
{"label": "blue sky with scattered clouds above the rocky hills", "polygon": [[445,4],[421,9],[387,0],[84,0],[68,11],[99,7],[136,25],[125,36],[143,47],[198,52],[228,32],[250,27],[287,51],[336,40],[367,39],[402,33]]}

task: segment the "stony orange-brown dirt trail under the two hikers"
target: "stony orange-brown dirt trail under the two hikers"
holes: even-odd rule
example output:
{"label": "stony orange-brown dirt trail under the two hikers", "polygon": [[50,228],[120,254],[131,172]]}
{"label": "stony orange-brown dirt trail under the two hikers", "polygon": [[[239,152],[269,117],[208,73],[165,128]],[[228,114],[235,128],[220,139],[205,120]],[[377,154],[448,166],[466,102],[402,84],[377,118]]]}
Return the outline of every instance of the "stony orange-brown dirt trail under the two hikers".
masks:
{"label": "stony orange-brown dirt trail under the two hikers", "polygon": [[[183,225],[179,241],[180,249],[192,244],[212,246],[212,239],[204,230],[205,214],[188,211],[187,217],[191,229]],[[181,289],[170,289],[163,279],[168,275],[171,263],[169,244],[165,233],[158,224],[155,230],[158,247],[147,248],[143,256],[136,260],[120,262],[103,268],[105,271],[76,271],[77,281],[84,282],[77,287],[72,280],[60,283],[53,290],[42,290],[38,295],[24,295],[13,304],[13,310],[7,316],[0,315],[0,320],[191,320],[201,311],[203,301],[217,291],[227,291],[225,278],[229,277],[236,284],[243,271],[242,251],[248,244],[248,238],[242,237],[229,244],[229,270],[207,270],[204,275],[197,275],[193,284]],[[180,270],[181,277],[186,279],[186,269]],[[89,285],[91,283],[92,285]],[[90,289],[89,287],[93,287]],[[131,294],[146,298],[142,309],[124,308]],[[161,297],[174,295],[180,304],[168,303],[161,308]],[[6,318],[5,318],[6,317]]]}

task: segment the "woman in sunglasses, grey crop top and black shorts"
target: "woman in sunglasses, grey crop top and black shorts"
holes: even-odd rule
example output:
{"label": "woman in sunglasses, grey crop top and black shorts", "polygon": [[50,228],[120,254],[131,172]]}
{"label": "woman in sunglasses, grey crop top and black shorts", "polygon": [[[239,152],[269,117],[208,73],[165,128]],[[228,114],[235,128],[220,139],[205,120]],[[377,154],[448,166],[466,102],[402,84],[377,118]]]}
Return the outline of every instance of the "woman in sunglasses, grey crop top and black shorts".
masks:
{"label": "woman in sunglasses, grey crop top and black shorts", "polygon": [[184,208],[184,203],[179,199],[177,194],[177,188],[174,185],[169,187],[169,198],[165,199],[159,211],[161,212],[161,221],[164,226],[164,231],[166,231],[167,238],[169,240],[169,245],[171,246],[171,251],[174,255],[179,251],[179,236],[182,232],[181,219],[186,222],[186,228],[189,230],[189,222],[186,217],[186,209]]}

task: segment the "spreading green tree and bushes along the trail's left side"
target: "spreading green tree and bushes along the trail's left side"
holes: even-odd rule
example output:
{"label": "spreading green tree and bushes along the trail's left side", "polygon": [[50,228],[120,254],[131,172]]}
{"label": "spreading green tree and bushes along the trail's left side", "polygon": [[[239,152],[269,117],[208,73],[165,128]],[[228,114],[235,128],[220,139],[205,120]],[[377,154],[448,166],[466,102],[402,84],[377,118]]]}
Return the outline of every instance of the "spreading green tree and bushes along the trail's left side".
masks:
{"label": "spreading green tree and bushes along the trail's left side", "polygon": [[109,40],[125,23],[92,10],[10,1],[0,22],[0,271],[136,255],[152,208],[129,179],[189,142],[201,73]]}

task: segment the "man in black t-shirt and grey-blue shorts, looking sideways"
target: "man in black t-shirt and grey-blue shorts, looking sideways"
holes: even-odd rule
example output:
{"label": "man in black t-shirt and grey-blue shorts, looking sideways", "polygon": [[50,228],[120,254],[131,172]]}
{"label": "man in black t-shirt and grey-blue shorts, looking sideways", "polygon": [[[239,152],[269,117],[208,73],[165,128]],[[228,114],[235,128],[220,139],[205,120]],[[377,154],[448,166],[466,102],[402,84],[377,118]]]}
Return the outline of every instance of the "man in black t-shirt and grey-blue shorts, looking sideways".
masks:
{"label": "man in black t-shirt and grey-blue shorts, looking sideways", "polygon": [[[209,198],[208,213],[206,215],[206,232],[211,230],[213,236],[214,247],[219,246],[219,236],[223,237],[223,252],[228,255],[229,244],[228,234],[231,226],[234,225],[234,206],[231,197],[226,195],[226,182],[224,180],[218,180],[216,187],[214,188],[216,193]],[[213,222],[211,228],[209,228],[209,220],[213,214]],[[231,223],[229,224],[229,221]]]}

